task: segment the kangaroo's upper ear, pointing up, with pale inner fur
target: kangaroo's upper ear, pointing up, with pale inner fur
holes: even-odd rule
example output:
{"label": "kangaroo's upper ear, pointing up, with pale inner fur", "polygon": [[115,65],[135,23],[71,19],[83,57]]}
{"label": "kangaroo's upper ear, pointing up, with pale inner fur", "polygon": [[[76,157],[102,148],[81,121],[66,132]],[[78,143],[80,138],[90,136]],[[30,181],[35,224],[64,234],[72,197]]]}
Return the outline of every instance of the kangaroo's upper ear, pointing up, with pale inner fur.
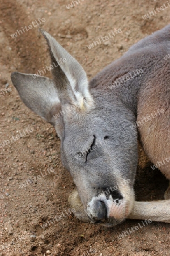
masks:
{"label": "kangaroo's upper ear, pointing up, with pale inner fur", "polygon": [[52,64],[57,66],[52,69],[52,73],[61,104],[69,102],[87,111],[94,108],[87,75],[82,66],[51,35],[43,30],[41,32],[48,43]]}

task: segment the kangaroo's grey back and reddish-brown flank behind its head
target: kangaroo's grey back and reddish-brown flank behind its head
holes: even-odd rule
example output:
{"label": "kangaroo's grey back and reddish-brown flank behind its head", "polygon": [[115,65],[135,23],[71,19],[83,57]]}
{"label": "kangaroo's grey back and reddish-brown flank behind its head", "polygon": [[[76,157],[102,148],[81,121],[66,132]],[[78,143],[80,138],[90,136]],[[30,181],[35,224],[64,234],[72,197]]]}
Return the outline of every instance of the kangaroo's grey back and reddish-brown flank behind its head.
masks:
{"label": "kangaroo's grey back and reddish-brown flank behind its head", "polygon": [[[146,154],[154,164],[163,163],[158,168],[170,179],[170,59],[164,59],[168,53],[170,25],[130,47],[91,80],[90,88],[102,88],[112,94],[113,101],[119,98],[134,112]],[[142,69],[143,74],[111,88],[136,69]],[[160,110],[164,113],[159,114]],[[150,120],[140,125],[151,114]]]}

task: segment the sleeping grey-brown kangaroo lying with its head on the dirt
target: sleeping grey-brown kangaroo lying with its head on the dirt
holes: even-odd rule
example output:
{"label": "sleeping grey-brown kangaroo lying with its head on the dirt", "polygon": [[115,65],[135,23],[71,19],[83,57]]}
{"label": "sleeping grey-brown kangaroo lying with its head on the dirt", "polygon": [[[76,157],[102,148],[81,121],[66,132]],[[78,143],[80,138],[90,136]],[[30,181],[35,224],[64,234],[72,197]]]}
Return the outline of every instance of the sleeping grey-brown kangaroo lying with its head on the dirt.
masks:
{"label": "sleeping grey-brown kangaroo lying with its head on the dirt", "polygon": [[[162,201],[137,202],[138,134],[170,180],[170,25],[130,47],[88,82],[86,72],[56,40],[48,43],[53,80],[14,72],[24,104],[51,123],[76,191],[69,203],[82,221],[113,226],[126,218],[170,222],[170,186]],[[61,61],[65,59],[66,61]],[[166,160],[165,160],[166,159]]]}

